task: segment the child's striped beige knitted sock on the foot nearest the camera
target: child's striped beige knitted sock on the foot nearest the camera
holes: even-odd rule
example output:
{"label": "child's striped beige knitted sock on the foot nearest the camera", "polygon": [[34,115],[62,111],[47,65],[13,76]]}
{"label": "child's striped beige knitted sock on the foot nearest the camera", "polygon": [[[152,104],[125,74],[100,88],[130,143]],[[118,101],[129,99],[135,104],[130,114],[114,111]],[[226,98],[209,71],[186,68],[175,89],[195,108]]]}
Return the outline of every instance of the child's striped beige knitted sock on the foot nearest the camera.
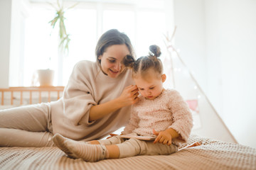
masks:
{"label": "child's striped beige knitted sock on the foot nearest the camera", "polygon": [[68,148],[75,158],[82,158],[87,162],[97,162],[108,158],[108,151],[105,145],[87,145],[81,142],[65,141],[64,145]]}

